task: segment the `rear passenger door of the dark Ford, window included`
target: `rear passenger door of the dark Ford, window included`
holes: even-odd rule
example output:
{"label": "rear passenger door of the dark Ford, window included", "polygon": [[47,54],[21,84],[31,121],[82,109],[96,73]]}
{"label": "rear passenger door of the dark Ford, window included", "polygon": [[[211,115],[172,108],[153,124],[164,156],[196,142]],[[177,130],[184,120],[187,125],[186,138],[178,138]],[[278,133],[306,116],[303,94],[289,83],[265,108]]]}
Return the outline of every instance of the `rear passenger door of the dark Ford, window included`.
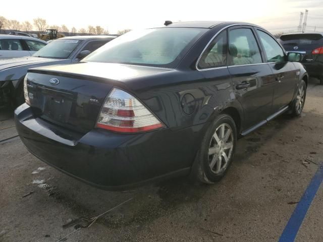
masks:
{"label": "rear passenger door of the dark Ford, window included", "polygon": [[243,129],[247,130],[271,114],[273,73],[263,63],[254,29],[238,26],[229,29],[229,72],[236,97],[244,109]]}

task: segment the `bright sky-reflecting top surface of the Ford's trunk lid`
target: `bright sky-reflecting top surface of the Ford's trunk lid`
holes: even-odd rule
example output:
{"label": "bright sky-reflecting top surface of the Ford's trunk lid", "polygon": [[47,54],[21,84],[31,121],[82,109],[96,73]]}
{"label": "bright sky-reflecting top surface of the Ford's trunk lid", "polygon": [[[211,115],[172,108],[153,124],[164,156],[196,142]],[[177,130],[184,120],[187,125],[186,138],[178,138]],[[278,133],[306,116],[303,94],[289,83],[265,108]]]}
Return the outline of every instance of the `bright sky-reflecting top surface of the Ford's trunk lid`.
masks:
{"label": "bright sky-reflecting top surface of the Ford's trunk lid", "polygon": [[56,73],[65,74],[71,77],[95,77],[109,80],[124,80],[139,76],[152,75],[168,72],[173,69],[124,65],[115,63],[76,63],[72,65],[55,65],[41,68],[34,68],[30,72],[56,75]]}

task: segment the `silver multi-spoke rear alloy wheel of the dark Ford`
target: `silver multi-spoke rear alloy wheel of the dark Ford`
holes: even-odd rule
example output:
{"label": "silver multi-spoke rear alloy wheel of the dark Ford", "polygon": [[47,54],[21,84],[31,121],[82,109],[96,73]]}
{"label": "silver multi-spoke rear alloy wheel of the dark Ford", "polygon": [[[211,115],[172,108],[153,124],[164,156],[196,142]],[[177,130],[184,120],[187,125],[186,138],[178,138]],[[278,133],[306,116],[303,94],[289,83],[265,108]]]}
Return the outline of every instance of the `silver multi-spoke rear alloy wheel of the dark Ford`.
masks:
{"label": "silver multi-spoke rear alloy wheel of the dark Ford", "polygon": [[233,132],[228,124],[221,124],[214,132],[208,148],[208,161],[215,174],[223,172],[230,161],[233,151]]}

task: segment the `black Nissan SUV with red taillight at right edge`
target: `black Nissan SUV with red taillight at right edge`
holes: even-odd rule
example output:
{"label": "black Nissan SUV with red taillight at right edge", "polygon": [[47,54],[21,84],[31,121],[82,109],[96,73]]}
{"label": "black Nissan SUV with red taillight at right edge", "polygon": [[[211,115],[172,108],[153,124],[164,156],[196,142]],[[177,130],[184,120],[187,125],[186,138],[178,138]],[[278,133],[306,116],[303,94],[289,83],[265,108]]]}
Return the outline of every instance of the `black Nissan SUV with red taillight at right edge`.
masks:
{"label": "black Nissan SUV with red taillight at right edge", "polygon": [[286,51],[299,52],[304,55],[301,62],[307,73],[320,80],[323,85],[323,34],[294,33],[280,37]]}

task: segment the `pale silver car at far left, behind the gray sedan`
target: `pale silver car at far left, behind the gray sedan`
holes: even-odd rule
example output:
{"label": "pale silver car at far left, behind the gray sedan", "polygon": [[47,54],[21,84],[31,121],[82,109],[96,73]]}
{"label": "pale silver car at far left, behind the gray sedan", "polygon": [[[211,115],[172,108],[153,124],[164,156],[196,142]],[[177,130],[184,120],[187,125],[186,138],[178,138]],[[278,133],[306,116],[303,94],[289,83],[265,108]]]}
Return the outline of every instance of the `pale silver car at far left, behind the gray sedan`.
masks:
{"label": "pale silver car at far left, behind the gray sedan", "polygon": [[46,44],[46,41],[32,37],[0,34],[0,60],[30,56]]}

